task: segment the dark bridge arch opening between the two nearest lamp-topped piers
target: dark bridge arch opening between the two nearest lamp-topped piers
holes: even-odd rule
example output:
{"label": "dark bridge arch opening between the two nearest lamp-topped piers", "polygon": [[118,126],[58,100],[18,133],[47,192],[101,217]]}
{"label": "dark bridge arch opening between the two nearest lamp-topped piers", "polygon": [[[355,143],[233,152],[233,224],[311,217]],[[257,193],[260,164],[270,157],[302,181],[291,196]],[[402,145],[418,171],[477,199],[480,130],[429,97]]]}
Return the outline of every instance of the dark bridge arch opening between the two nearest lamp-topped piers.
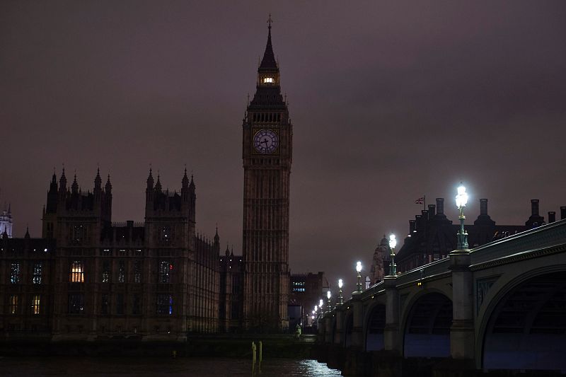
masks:
{"label": "dark bridge arch opening between the two nearest lamp-topped piers", "polygon": [[403,356],[450,356],[452,300],[441,291],[415,294],[403,320]]}

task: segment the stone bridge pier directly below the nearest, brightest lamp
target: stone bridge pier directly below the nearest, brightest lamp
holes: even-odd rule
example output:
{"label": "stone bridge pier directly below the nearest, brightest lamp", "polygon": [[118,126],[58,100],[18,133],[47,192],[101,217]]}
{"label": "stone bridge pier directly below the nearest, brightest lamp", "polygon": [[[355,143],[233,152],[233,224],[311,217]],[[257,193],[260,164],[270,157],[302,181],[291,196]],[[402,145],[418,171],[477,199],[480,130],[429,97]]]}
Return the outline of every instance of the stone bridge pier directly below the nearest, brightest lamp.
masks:
{"label": "stone bridge pier directly below the nearest, brightest lamp", "polygon": [[473,323],[473,274],[470,270],[470,250],[450,253],[452,274],[452,325],[450,327],[450,356],[470,359],[475,356]]}

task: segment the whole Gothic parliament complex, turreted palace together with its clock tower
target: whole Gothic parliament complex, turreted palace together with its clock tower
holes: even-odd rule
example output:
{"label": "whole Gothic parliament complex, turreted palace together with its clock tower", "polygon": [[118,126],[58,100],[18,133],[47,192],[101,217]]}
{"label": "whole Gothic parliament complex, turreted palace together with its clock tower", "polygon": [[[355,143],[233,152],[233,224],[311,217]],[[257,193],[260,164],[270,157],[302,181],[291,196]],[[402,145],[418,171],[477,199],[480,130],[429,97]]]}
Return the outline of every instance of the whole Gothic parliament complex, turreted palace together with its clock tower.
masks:
{"label": "whole Gothic parliament complex, turreted palace together with its clock tower", "polygon": [[256,88],[242,124],[242,255],[221,250],[218,229],[213,239],[195,231],[186,169],[175,192],[149,170],[143,223],[112,222],[110,176],[97,171],[81,189],[76,175],[53,173],[42,237],[12,238],[6,226],[0,236],[0,337],[182,342],[190,332],[286,331],[292,126],[271,23]]}

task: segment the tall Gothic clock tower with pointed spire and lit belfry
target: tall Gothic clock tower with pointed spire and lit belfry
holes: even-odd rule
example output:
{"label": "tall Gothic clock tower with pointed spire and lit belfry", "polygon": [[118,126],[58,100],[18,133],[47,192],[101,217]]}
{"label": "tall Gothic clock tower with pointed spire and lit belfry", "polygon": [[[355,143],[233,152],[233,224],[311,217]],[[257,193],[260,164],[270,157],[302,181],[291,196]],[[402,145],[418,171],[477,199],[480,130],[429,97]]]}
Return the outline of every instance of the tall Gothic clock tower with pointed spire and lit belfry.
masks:
{"label": "tall Gothic clock tower with pointed spire and lit belfry", "polygon": [[248,330],[289,327],[289,176],[293,127],[271,45],[258,68],[243,121],[244,323]]}

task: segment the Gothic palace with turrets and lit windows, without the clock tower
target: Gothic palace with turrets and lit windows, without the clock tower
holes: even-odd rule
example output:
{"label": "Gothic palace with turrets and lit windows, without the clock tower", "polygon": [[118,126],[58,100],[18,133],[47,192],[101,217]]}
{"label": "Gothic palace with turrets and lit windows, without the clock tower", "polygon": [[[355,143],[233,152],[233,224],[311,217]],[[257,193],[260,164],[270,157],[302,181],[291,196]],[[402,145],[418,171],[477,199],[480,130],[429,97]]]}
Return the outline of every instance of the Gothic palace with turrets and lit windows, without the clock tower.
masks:
{"label": "Gothic palace with turrets and lit windows, without the clock tower", "polygon": [[[195,203],[186,170],[179,192],[163,190],[150,170],[144,223],[112,223],[110,177],[103,186],[97,172],[83,191],[76,176],[68,187],[64,171],[59,184],[53,175],[42,238],[0,239],[0,333],[182,341],[232,327],[241,284],[219,259],[218,231],[212,240],[195,231]],[[220,305],[226,299],[234,303]]]}

